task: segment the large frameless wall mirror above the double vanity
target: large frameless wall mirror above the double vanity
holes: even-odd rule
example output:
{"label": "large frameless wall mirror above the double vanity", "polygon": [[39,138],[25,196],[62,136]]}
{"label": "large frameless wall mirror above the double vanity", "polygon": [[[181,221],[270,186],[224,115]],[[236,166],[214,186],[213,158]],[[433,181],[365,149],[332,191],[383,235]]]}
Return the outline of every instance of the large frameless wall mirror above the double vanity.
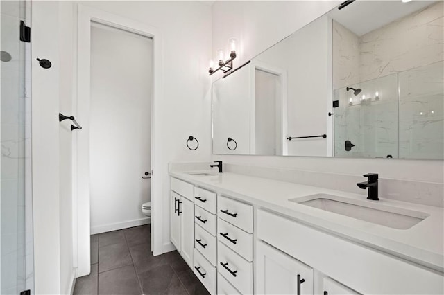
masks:
{"label": "large frameless wall mirror above the double vanity", "polygon": [[443,4],[352,2],[216,80],[213,153],[443,159]]}

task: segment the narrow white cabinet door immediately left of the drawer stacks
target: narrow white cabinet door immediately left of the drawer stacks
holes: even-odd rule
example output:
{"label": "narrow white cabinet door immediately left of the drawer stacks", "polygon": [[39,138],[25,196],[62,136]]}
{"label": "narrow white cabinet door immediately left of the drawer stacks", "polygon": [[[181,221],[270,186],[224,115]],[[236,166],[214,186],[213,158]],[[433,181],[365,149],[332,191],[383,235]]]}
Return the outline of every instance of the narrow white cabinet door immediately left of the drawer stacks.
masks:
{"label": "narrow white cabinet door immediately left of the drawer stacks", "polygon": [[183,259],[193,267],[194,253],[194,203],[182,197],[180,200],[180,249]]}

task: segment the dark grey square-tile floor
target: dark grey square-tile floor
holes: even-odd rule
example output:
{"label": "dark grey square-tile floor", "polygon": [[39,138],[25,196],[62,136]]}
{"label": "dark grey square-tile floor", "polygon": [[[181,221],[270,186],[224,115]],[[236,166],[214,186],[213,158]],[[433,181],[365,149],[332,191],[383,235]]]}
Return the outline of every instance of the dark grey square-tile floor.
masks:
{"label": "dark grey square-tile floor", "polygon": [[74,294],[209,294],[178,251],[153,256],[150,226],[91,236],[91,274]]}

